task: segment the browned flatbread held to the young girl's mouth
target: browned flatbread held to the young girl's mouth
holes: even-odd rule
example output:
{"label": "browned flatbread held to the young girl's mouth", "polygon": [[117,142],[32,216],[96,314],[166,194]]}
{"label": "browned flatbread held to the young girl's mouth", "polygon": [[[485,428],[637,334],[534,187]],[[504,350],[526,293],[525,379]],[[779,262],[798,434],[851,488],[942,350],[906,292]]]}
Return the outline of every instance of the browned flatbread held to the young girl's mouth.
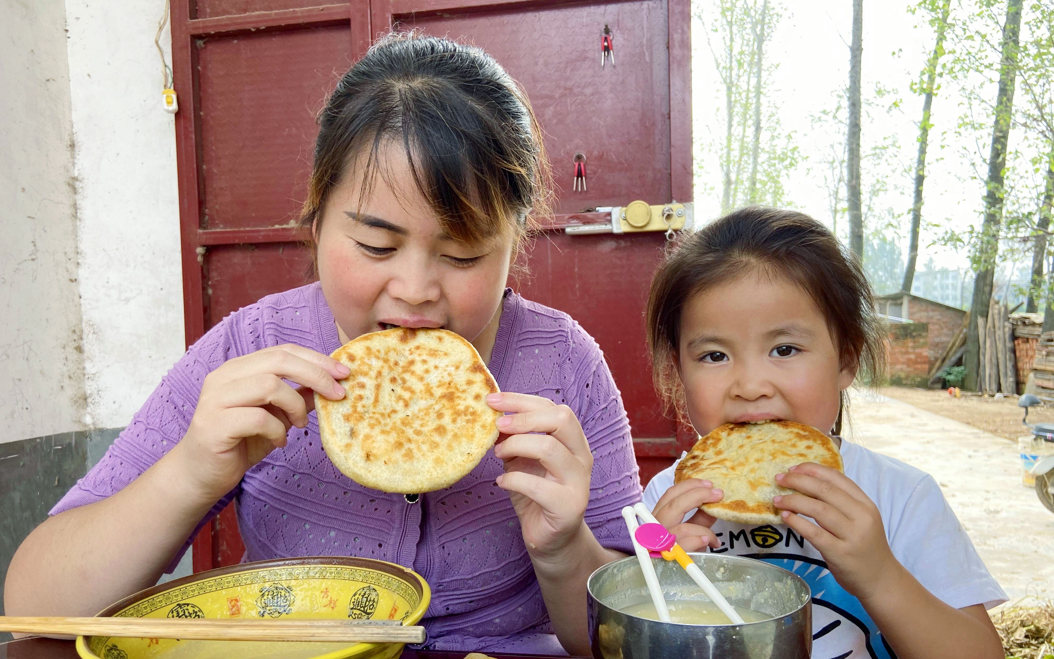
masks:
{"label": "browned flatbread held to the young girl's mouth", "polygon": [[724,490],[721,501],[701,507],[719,520],[781,524],[773,497],[794,490],[777,485],[776,474],[803,462],[843,471],[835,441],[816,428],[793,421],[726,423],[696,442],[677,466],[674,482],[705,479]]}

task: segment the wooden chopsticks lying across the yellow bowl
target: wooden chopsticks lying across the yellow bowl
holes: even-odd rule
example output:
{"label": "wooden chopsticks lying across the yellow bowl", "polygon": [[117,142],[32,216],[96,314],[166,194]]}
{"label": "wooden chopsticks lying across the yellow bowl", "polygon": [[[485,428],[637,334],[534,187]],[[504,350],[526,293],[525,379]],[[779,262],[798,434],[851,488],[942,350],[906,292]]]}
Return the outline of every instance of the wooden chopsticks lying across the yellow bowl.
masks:
{"label": "wooden chopsticks lying across the yellow bowl", "polygon": [[207,641],[425,642],[425,627],[394,621],[0,616],[0,631]]}

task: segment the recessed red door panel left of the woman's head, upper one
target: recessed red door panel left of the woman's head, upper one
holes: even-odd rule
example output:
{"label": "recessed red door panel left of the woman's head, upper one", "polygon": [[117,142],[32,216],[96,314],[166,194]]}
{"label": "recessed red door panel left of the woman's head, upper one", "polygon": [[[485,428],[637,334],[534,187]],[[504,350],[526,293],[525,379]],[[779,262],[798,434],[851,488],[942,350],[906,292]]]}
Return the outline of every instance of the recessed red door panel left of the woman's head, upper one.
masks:
{"label": "recessed red door panel left of the woman's head, upper one", "polygon": [[311,175],[314,117],[351,66],[348,26],[213,37],[197,49],[201,228],[295,222]]}

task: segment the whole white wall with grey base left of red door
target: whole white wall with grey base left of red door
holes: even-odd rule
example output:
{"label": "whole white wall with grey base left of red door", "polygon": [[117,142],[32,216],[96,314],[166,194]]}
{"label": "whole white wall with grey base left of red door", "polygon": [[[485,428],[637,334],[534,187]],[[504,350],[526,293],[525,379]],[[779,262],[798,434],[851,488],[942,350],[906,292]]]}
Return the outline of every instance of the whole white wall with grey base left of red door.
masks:
{"label": "whole white wall with grey base left of red door", "polygon": [[22,539],[183,352],[162,7],[0,0],[0,601]]}

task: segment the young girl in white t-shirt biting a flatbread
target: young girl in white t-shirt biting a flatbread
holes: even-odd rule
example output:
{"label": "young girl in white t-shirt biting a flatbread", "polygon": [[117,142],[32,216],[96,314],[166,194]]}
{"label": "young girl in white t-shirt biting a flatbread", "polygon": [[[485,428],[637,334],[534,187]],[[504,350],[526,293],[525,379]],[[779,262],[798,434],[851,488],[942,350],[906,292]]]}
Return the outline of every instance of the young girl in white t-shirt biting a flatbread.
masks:
{"label": "young girl in white t-shirt biting a flatbread", "polygon": [[783,523],[753,527],[703,513],[722,492],[674,485],[676,465],[644,502],[687,550],[709,547],[794,571],[813,592],[813,657],[991,657],[985,613],[1006,595],[937,483],[838,437],[844,390],[878,376],[883,346],[871,289],[822,225],[747,208],[684,239],[651,285],[648,342],[667,403],[700,434],[768,419],[831,433],[845,473],[806,463],[776,477]]}

